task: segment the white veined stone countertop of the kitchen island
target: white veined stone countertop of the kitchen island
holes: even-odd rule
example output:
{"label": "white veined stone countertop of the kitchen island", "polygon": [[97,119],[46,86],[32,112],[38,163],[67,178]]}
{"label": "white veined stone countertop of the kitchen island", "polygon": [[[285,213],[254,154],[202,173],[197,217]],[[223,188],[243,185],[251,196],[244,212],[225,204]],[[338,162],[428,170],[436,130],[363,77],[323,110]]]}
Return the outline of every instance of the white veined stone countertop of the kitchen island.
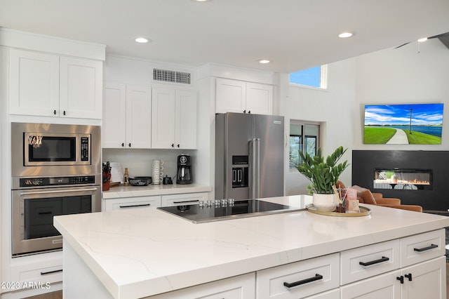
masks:
{"label": "white veined stone countertop of the kitchen island", "polygon": [[[297,195],[263,199],[301,206]],[[114,298],[145,297],[449,226],[381,206],[363,217],[308,211],[194,224],[156,208],[56,216],[55,227]]]}

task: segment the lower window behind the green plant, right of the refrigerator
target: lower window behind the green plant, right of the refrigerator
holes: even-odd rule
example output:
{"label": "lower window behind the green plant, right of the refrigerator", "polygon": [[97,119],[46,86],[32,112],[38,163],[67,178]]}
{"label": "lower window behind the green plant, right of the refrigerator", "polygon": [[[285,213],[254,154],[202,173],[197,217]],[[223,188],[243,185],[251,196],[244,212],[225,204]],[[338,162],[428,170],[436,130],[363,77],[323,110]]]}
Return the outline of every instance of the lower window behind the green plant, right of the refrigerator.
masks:
{"label": "lower window behind the green plant, right of the refrigerator", "polygon": [[319,147],[319,124],[306,124],[301,121],[290,121],[290,158],[289,168],[296,168],[302,163],[299,151],[316,155]]}

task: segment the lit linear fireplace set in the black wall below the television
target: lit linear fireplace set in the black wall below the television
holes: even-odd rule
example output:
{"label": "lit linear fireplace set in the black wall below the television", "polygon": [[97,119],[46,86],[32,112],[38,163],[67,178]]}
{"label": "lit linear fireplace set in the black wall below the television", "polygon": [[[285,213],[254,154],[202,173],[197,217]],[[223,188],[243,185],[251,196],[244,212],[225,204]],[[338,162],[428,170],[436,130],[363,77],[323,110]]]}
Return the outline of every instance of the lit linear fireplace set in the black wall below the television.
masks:
{"label": "lit linear fireplace set in the black wall below the television", "polygon": [[375,189],[431,190],[431,169],[374,168]]}

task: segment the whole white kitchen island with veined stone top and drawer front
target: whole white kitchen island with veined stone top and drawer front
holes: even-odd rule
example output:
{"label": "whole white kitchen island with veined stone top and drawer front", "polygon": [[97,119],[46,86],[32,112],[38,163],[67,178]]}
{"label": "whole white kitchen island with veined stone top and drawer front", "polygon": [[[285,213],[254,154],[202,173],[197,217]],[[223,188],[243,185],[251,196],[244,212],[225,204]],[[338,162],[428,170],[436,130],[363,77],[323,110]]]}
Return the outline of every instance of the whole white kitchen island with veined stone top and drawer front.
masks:
{"label": "whole white kitchen island with veined stone top and drawer front", "polygon": [[[292,196],[264,200],[299,207],[310,199]],[[442,228],[449,226],[449,218],[364,206],[371,213],[363,217],[296,211],[201,224],[156,208],[57,216],[54,225],[64,237],[64,296],[145,298],[174,291],[165,298],[176,298],[180,291],[175,290],[187,288],[181,290],[185,295],[192,289],[188,287],[194,286],[193,293],[195,288],[204,292],[208,286],[215,288],[217,281],[224,281],[226,286],[229,277],[240,275],[237,281],[246,281],[249,286],[237,293],[249,293],[237,298],[248,298],[248,294],[250,298],[267,298],[263,292],[272,291],[271,280],[260,279],[270,271],[304,265],[317,272],[321,266],[314,266],[316,260],[329,262],[330,266],[327,270],[323,268],[319,288],[306,290],[305,295],[330,290],[330,296],[323,298],[340,298],[340,291],[341,298],[351,298],[344,294],[356,293],[357,285],[353,284],[363,284],[361,279],[387,274],[400,277],[403,267],[424,264],[426,260],[438,265],[436,274],[440,282],[445,280]],[[374,251],[370,253],[368,249],[372,248]],[[367,251],[366,257],[370,259],[375,253],[382,255],[382,259],[389,258],[380,267],[369,265],[363,276],[359,269],[354,273],[351,267],[346,270],[352,265],[354,250],[360,251],[357,256]],[[396,279],[393,281],[396,284]],[[440,282],[438,292],[445,296],[445,284]],[[313,284],[307,283],[306,288]],[[396,290],[400,286],[398,283]]]}

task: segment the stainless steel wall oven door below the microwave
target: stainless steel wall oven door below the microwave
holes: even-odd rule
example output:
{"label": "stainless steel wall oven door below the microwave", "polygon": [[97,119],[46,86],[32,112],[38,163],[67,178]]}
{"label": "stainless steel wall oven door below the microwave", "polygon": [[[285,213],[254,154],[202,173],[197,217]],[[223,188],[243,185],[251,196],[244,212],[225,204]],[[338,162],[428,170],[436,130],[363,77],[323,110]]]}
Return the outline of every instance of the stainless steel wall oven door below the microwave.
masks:
{"label": "stainless steel wall oven door below the microwave", "polygon": [[101,211],[100,186],[12,191],[13,256],[60,250],[62,236],[53,216]]}

